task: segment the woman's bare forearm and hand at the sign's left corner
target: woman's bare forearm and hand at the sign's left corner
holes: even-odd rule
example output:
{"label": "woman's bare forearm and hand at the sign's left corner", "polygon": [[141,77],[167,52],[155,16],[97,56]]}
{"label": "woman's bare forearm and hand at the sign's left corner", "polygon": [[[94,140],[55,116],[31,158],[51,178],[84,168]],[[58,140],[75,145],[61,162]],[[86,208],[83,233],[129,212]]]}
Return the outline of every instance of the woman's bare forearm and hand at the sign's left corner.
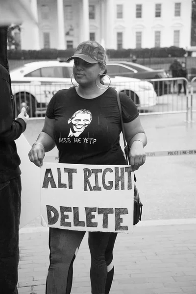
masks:
{"label": "woman's bare forearm and hand at the sign's left corner", "polygon": [[41,168],[43,165],[43,159],[45,152],[49,152],[55,147],[55,141],[53,138],[54,120],[45,117],[44,127],[42,132],[39,134],[36,142],[28,153],[28,157],[31,162]]}

